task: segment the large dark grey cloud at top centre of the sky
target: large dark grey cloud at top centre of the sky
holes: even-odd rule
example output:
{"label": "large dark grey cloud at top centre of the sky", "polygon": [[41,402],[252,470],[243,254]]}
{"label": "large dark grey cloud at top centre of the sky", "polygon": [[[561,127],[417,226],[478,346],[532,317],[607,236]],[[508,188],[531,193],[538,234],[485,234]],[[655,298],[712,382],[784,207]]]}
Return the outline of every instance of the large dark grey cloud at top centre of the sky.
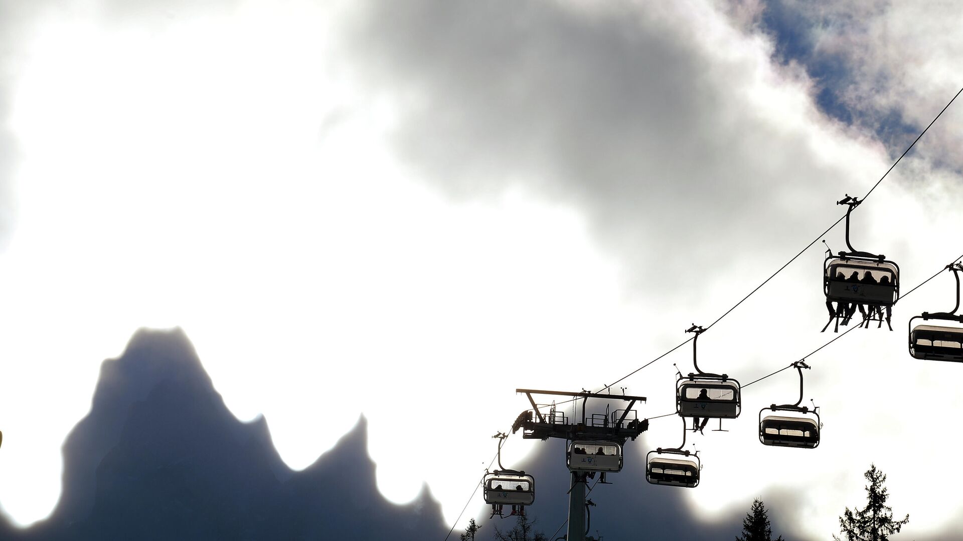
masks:
{"label": "large dark grey cloud at top centre of the sky", "polygon": [[541,1],[365,6],[351,61],[401,108],[403,157],[456,197],[520,185],[577,205],[640,283],[706,271],[684,253],[722,262],[796,244],[812,235],[802,224],[836,210],[835,189],[812,194],[840,173],[748,97],[765,66],[698,45],[710,30],[695,18]]}

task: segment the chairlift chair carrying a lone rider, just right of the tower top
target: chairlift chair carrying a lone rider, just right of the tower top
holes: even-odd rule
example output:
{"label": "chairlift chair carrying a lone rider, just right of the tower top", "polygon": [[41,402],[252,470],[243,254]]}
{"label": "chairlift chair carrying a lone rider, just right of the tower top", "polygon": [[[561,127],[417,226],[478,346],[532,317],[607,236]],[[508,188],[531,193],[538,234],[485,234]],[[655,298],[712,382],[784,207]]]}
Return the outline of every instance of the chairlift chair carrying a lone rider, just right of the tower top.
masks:
{"label": "chairlift chair carrying a lone rider, just right of the tower top", "polygon": [[686,332],[694,332],[692,365],[696,372],[688,376],[679,373],[676,379],[676,412],[680,417],[703,419],[735,419],[742,413],[742,393],[739,381],[728,374],[702,372],[696,359],[699,335],[706,329],[692,325]]}

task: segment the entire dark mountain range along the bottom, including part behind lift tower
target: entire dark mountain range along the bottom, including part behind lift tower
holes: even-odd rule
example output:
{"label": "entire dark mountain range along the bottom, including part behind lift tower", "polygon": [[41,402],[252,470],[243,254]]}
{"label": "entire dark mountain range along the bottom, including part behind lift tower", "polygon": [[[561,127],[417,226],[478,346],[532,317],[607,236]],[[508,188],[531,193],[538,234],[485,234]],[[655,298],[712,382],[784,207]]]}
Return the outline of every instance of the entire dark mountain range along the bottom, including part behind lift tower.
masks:
{"label": "entire dark mountain range along the bottom, including part behind lift tower", "polygon": [[[104,361],[91,411],[65,440],[63,491],[52,514],[23,529],[0,519],[0,540],[445,539],[451,525],[427,486],[405,505],[380,495],[367,429],[362,416],[311,466],[292,471],[263,417],[242,423],[225,407],[183,331],[142,329],[120,357]],[[751,502],[730,502],[732,511],[701,519],[688,489],[645,482],[646,436],[627,443],[625,467],[609,476],[612,484],[588,494],[597,503],[589,534],[735,538]],[[526,512],[536,530],[560,537],[569,488],[564,442],[512,445],[534,446],[506,466],[535,476],[537,495]],[[489,519],[480,501],[465,511],[483,527],[479,541],[514,526],[514,518]],[[797,507],[800,496],[770,494],[766,502],[773,529],[795,539],[778,510]]]}

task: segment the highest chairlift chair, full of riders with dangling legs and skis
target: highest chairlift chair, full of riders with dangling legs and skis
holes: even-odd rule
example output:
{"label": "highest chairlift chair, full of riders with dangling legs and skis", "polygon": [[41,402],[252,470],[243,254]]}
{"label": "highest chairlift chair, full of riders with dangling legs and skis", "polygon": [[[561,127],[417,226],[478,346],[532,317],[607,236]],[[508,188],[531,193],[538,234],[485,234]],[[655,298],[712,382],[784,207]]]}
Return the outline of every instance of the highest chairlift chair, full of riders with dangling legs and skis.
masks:
{"label": "highest chairlift chair, full of riders with dangling legs and skis", "polygon": [[[850,197],[837,201],[838,205],[848,205],[846,210],[846,247],[829,255],[822,264],[822,290],[826,296],[826,310],[829,321],[822,327],[824,332],[829,323],[836,322],[835,332],[839,332],[840,320],[846,325],[858,308],[863,316],[860,325],[870,327],[870,322],[879,322],[879,327],[890,324],[893,305],[899,298],[899,267],[884,255],[857,251],[849,243],[849,215],[862,201]],[[886,312],[885,317],[883,312]]]}

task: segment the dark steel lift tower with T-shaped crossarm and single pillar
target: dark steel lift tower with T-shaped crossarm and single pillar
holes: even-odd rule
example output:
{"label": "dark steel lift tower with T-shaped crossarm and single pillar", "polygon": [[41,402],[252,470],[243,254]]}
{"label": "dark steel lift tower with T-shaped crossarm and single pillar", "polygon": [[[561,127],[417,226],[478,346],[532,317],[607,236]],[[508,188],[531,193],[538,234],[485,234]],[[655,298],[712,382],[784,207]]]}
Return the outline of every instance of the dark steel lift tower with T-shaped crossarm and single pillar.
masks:
{"label": "dark steel lift tower with T-shaped crossarm and single pillar", "polygon": [[[632,406],[636,402],[644,402],[645,397],[631,397],[628,395],[602,395],[599,393],[568,393],[563,391],[539,391],[535,389],[515,389],[516,393],[525,393],[532,404],[532,412],[522,412],[518,416],[511,431],[523,429],[525,439],[561,438],[568,442],[566,449],[566,463],[571,472],[571,489],[568,491],[568,536],[567,541],[585,541],[586,537],[586,479],[600,474],[599,481],[605,482],[606,472],[617,472],[622,469],[622,446],[626,440],[635,440],[649,427],[647,419],[638,419],[636,410]],[[572,397],[582,399],[582,418],[569,419],[565,414],[552,406],[548,415],[542,414],[533,395],[547,395],[557,397]],[[588,399],[622,400],[629,402],[624,409],[616,409],[605,413],[586,414]],[[598,448],[595,451],[594,448]],[[611,451],[607,452],[606,449]],[[581,453],[579,451],[582,451]],[[614,451],[617,456],[612,455]]]}

